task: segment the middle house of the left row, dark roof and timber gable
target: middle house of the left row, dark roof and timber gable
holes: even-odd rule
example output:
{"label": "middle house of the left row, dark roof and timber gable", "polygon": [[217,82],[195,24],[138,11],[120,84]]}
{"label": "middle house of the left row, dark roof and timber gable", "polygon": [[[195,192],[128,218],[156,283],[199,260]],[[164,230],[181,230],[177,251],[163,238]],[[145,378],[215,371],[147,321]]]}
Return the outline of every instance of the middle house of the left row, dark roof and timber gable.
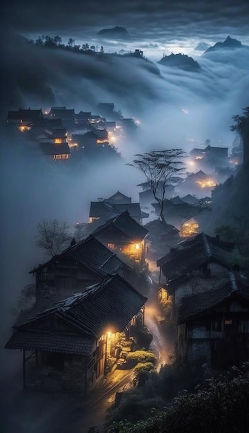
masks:
{"label": "middle house of the left row, dark roof and timber gable", "polygon": [[92,234],[30,273],[36,276],[37,310],[99,283],[108,273],[132,278],[129,266]]}

